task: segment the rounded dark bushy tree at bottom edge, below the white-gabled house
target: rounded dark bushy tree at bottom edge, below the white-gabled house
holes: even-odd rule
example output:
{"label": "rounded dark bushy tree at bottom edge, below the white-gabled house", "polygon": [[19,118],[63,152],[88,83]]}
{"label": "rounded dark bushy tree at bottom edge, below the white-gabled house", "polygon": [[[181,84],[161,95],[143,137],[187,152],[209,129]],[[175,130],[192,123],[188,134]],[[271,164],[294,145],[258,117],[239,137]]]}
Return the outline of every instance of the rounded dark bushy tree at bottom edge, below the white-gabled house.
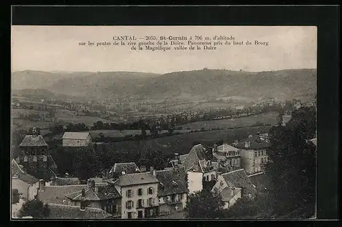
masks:
{"label": "rounded dark bushy tree at bottom edge, below the white-gabled house", "polygon": [[198,191],[187,200],[187,217],[189,218],[217,218],[224,215],[224,202],[218,191]]}

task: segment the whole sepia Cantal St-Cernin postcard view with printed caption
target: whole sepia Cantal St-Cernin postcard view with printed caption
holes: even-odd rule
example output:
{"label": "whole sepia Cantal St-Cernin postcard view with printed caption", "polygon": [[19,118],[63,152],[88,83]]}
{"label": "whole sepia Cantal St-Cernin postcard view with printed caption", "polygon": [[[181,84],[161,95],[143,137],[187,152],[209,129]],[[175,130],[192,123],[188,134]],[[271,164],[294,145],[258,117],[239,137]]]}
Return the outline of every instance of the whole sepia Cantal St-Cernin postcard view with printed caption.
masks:
{"label": "whole sepia Cantal St-Cernin postcard view with printed caption", "polygon": [[12,219],[316,217],[317,27],[12,26]]}

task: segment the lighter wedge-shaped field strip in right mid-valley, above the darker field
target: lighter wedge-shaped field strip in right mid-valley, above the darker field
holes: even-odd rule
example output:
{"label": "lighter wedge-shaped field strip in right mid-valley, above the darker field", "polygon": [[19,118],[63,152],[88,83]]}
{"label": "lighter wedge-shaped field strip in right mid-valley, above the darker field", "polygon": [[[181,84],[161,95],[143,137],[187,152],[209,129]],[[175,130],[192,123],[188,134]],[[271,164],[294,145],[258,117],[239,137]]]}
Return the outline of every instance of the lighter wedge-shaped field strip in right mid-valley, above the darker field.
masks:
{"label": "lighter wedge-shaped field strip in right mid-valley, above the darker field", "polygon": [[244,127],[244,126],[252,126],[257,122],[263,124],[276,124],[277,123],[277,112],[269,112],[267,114],[259,114],[254,116],[247,116],[241,118],[232,118],[232,119],[224,119],[224,120],[208,120],[203,122],[193,122],[188,124],[181,125],[183,129],[192,129],[192,130],[200,130],[202,128],[205,129],[224,129],[224,128],[232,128],[232,127]]}

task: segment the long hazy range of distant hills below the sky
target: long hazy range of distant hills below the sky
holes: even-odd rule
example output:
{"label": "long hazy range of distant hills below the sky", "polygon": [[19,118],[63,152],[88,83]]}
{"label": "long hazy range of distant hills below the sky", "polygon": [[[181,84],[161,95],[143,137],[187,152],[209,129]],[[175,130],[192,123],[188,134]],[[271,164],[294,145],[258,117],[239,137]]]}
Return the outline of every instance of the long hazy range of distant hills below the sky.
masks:
{"label": "long hazy range of distant hills below the sky", "polygon": [[45,88],[51,92],[90,98],[172,98],[191,100],[225,96],[280,100],[314,96],[317,70],[267,72],[193,70],[164,75],[143,72],[14,72],[12,88]]}

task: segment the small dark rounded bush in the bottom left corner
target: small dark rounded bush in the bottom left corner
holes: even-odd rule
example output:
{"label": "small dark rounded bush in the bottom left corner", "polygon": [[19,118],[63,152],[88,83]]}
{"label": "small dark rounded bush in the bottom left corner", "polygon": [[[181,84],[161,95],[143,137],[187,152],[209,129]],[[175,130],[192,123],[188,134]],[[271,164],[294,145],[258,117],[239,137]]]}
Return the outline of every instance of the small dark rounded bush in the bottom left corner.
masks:
{"label": "small dark rounded bush in the bottom left corner", "polygon": [[49,206],[47,204],[44,205],[43,202],[38,199],[25,202],[18,211],[18,217],[31,216],[33,218],[44,218],[49,217],[49,215]]}

